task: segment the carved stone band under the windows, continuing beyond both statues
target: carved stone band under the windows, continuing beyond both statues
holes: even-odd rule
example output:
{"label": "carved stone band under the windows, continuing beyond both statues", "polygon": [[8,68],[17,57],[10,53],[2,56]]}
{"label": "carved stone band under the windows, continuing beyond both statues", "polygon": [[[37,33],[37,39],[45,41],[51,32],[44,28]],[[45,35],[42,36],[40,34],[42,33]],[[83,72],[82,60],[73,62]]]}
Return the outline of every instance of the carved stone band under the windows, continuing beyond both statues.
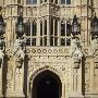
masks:
{"label": "carved stone band under the windows, continuing beyond both statues", "polygon": [[[13,48],[5,48],[5,54],[13,56]],[[89,48],[82,49],[84,56],[89,57]],[[26,53],[33,56],[70,56],[71,47],[26,47]]]}

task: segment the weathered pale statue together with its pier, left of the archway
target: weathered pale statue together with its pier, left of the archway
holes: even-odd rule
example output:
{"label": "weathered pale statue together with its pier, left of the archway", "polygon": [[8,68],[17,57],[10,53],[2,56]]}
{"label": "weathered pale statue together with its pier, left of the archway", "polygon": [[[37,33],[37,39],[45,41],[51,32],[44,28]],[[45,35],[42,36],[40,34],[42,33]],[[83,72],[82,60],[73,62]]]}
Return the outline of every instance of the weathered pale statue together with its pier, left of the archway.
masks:
{"label": "weathered pale statue together with its pier, left of the archway", "polygon": [[15,59],[15,90],[19,90],[22,93],[23,88],[23,63],[24,63],[24,39],[17,38],[14,41],[14,59]]}

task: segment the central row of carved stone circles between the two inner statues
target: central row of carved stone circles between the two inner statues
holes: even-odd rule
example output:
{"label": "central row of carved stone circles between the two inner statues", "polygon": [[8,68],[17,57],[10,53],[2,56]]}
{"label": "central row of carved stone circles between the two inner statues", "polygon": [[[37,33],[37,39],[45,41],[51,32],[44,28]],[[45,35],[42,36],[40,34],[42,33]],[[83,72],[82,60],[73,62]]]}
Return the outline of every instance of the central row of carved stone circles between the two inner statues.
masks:
{"label": "central row of carved stone circles between the two inner statues", "polygon": [[35,56],[69,56],[70,49],[69,48],[30,48],[26,50],[26,53],[28,54],[35,54]]}

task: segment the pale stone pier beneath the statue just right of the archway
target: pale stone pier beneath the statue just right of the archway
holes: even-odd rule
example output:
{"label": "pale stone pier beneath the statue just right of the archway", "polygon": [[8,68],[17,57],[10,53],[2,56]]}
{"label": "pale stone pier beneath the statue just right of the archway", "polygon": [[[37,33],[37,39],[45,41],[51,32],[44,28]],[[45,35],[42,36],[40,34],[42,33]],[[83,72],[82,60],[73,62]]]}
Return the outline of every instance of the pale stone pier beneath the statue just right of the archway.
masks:
{"label": "pale stone pier beneath the statue just right of the archway", "polygon": [[82,98],[82,58],[78,60],[76,57],[72,58],[72,94],[75,98]]}

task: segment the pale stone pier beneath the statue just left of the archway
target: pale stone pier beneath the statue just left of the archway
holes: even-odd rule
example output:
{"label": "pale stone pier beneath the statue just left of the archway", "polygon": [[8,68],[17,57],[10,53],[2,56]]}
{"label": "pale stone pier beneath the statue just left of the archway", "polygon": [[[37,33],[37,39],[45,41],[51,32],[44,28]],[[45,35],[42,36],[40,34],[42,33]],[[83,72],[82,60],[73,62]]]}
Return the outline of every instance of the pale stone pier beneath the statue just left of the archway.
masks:
{"label": "pale stone pier beneath the statue just left of the archway", "polygon": [[24,85],[24,60],[15,58],[15,68],[14,68],[14,89],[16,97],[25,97],[23,91]]}

